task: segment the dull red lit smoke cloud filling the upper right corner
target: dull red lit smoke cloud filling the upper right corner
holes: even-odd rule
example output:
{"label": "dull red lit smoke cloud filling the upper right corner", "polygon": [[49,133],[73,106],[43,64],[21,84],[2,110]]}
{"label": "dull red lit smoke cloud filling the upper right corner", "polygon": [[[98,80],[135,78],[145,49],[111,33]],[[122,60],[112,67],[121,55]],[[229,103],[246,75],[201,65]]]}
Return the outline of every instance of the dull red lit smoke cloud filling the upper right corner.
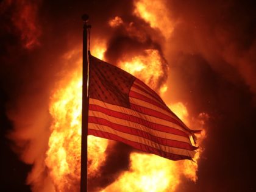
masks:
{"label": "dull red lit smoke cloud filling the upper right corner", "polygon": [[170,2],[180,23],[172,35],[169,55],[201,55],[215,71],[235,82],[244,80],[255,94],[255,27],[253,1]]}

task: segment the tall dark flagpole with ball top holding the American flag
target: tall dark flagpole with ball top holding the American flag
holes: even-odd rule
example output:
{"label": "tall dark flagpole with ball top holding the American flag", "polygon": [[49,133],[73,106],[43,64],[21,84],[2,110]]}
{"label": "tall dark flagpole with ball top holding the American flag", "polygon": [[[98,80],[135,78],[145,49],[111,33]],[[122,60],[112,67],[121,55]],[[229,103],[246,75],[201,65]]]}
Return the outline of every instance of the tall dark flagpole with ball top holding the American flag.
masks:
{"label": "tall dark flagpole with ball top holding the American flag", "polygon": [[81,136],[81,170],[80,170],[80,192],[87,192],[87,135],[88,135],[88,43],[87,24],[89,16],[82,15],[84,21],[83,31],[83,85],[82,85],[82,136]]}

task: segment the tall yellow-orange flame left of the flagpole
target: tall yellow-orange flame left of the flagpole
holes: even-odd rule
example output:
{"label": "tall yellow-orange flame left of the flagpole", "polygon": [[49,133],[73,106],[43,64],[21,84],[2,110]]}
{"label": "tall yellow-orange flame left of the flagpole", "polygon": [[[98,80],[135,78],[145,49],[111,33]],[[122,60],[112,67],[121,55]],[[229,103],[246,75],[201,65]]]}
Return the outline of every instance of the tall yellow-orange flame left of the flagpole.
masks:
{"label": "tall yellow-orange flame left of the flagpole", "polygon": [[52,96],[50,113],[54,123],[46,165],[51,169],[56,191],[68,191],[79,184],[81,84],[81,79],[74,77]]}

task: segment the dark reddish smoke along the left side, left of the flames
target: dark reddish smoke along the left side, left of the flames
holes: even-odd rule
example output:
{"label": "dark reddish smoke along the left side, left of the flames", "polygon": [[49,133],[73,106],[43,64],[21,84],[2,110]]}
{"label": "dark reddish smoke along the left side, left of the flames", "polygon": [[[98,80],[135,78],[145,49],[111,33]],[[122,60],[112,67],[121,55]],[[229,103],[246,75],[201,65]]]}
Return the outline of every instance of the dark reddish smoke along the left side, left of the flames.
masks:
{"label": "dark reddish smoke along the left side, left of the flames", "polygon": [[[34,191],[47,191],[43,160],[51,123],[49,98],[60,72],[72,68],[63,61],[63,53],[79,43],[49,23],[48,5],[37,12],[38,2],[1,2],[1,191],[30,191],[26,184],[32,183],[42,185],[32,185]],[[54,38],[56,34],[59,38]]]}

